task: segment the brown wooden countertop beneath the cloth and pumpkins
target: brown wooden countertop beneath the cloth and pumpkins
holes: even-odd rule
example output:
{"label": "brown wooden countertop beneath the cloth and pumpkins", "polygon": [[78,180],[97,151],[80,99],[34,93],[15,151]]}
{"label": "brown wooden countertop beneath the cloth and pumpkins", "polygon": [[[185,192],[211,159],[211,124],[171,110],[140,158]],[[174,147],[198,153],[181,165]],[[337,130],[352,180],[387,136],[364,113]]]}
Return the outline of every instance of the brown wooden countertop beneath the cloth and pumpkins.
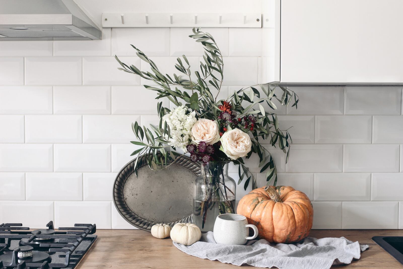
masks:
{"label": "brown wooden countertop beneath the cloth and pumpkins", "polygon": [[[185,254],[172,245],[170,238],[157,239],[147,231],[97,230],[96,234],[98,239],[77,269],[239,268]],[[368,244],[370,248],[361,252],[361,259],[353,261],[348,268],[403,268],[403,265],[371,240],[372,236],[403,236],[402,230],[312,230],[309,236],[315,238],[344,236],[351,241]]]}

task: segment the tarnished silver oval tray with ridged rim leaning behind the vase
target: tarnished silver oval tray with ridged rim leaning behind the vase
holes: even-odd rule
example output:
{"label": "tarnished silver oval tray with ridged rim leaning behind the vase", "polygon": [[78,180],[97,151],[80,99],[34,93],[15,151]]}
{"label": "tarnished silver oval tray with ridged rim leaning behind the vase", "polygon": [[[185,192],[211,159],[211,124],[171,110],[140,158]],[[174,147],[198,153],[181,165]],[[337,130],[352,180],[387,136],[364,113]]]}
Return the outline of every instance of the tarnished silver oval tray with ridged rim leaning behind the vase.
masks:
{"label": "tarnished silver oval tray with ridged rim leaning behind the vase", "polygon": [[152,225],[191,222],[193,185],[200,167],[186,156],[180,156],[166,169],[153,171],[146,156],[139,156],[138,177],[134,173],[136,159],[125,165],[116,176],[113,201],[122,217],[131,225],[150,231]]}

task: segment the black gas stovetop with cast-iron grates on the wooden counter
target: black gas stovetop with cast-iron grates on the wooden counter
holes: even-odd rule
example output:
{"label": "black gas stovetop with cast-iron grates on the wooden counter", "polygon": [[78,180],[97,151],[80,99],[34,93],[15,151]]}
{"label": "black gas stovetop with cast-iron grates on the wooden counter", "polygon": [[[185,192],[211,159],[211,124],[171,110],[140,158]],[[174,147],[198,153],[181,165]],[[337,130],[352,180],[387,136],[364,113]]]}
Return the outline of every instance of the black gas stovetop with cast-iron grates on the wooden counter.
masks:
{"label": "black gas stovetop with cast-iron grates on the wooden counter", "polygon": [[95,224],[27,231],[21,223],[0,224],[0,269],[73,269],[97,236]]}

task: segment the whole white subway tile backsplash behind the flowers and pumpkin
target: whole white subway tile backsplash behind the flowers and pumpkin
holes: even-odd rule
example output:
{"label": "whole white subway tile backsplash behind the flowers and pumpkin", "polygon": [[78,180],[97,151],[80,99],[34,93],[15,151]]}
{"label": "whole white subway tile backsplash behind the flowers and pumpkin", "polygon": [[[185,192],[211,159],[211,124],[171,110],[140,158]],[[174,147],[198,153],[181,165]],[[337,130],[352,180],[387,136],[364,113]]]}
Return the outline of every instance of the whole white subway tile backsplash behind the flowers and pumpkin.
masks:
{"label": "whole white subway tile backsplash behind the flowers and pumpkin", "polygon": [[[225,55],[224,93],[267,82],[262,62],[271,54],[261,44],[270,30],[205,30]],[[131,228],[114,208],[112,184],[135,149],[131,122],[155,122],[156,100],[144,81],[116,69],[113,55],[146,70],[131,43],[172,73],[177,56],[200,60],[189,33],[104,29],[99,41],[0,42],[0,223]],[[402,89],[293,90],[299,109],[278,111],[281,126],[294,126],[289,163],[270,149],[278,184],[313,200],[314,228],[403,228]],[[249,167],[265,185],[256,158]],[[237,179],[234,169],[231,176]],[[237,197],[243,194],[239,186]]]}

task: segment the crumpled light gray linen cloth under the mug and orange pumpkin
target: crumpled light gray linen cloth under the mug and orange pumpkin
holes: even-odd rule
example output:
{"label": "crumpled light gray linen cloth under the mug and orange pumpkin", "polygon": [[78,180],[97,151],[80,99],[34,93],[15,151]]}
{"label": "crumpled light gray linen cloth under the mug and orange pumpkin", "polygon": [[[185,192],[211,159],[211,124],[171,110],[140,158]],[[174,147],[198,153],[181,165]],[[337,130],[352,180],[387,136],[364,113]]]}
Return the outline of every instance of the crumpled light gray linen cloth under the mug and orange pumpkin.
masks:
{"label": "crumpled light gray linen cloth under the mug and orange pumpkin", "polygon": [[203,234],[200,241],[191,246],[173,244],[179,250],[202,259],[280,269],[325,269],[349,264],[353,259],[359,259],[361,251],[368,248],[368,245],[359,245],[344,237],[307,237],[294,244],[275,244],[261,239],[250,240],[245,246],[220,245],[214,241],[212,231]]}

